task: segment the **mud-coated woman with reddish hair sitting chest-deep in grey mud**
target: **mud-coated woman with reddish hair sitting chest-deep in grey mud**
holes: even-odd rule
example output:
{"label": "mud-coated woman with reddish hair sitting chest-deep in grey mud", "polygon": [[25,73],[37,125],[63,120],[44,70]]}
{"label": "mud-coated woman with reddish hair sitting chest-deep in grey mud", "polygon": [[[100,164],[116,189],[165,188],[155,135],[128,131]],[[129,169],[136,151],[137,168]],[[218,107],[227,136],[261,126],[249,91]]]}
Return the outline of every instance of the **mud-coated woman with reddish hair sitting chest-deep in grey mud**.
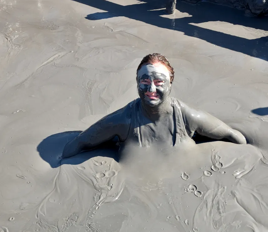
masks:
{"label": "mud-coated woman with reddish hair sitting chest-deep in grey mud", "polygon": [[90,150],[116,136],[124,145],[175,146],[194,132],[213,139],[246,144],[245,137],[204,111],[170,97],[173,67],[162,54],[145,56],[137,68],[139,98],[103,117],[64,147],[62,158]]}

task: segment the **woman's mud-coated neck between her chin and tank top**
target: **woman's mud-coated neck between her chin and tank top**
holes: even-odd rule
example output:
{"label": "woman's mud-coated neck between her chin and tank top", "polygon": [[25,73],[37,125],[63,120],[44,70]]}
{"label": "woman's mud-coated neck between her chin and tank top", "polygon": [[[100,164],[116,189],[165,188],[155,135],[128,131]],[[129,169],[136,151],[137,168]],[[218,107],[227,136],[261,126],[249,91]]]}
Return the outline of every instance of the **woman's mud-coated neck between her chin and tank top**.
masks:
{"label": "woman's mud-coated neck between her chin and tank top", "polygon": [[161,117],[166,116],[172,108],[169,99],[167,98],[164,102],[157,106],[149,106],[144,101],[141,101],[142,112],[152,121],[157,121]]}

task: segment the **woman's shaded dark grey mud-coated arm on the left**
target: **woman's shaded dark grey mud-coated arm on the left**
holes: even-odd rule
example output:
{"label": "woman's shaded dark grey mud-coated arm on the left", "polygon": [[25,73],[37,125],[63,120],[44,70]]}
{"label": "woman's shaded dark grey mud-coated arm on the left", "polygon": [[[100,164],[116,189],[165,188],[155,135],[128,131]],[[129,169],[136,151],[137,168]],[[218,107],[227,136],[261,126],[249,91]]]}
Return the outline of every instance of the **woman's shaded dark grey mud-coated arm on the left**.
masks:
{"label": "woman's shaded dark grey mud-coated arm on the left", "polygon": [[91,150],[116,136],[120,142],[124,142],[129,133],[131,111],[132,102],[94,123],[65,145],[62,158],[69,158],[82,151]]}

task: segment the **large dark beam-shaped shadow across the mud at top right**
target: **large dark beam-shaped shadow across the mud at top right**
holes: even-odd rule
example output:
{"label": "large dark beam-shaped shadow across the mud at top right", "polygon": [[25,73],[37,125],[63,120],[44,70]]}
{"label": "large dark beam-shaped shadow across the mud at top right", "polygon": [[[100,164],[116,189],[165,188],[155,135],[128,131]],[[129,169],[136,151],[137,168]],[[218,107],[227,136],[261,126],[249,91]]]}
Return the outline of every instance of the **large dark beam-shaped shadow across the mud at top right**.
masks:
{"label": "large dark beam-shaped shadow across the mud at top right", "polygon": [[[165,18],[165,1],[163,0],[144,0],[143,3],[122,6],[106,0],[73,0],[79,3],[89,5],[106,12],[97,12],[85,16],[89,20],[107,19],[113,17],[127,17],[144,23],[148,23],[160,28],[167,28],[191,37],[197,37],[211,44],[241,52],[252,57],[268,60],[268,23],[267,16],[246,17],[243,11],[226,6],[202,2],[195,5],[177,1],[176,8],[182,13],[188,13],[183,18]],[[232,34],[226,34],[203,28],[202,25],[193,25],[192,23],[218,22],[222,25],[224,22],[244,26],[250,30],[256,39],[246,39]],[[232,25],[230,25],[232,26]],[[219,27],[220,28],[220,27]]]}

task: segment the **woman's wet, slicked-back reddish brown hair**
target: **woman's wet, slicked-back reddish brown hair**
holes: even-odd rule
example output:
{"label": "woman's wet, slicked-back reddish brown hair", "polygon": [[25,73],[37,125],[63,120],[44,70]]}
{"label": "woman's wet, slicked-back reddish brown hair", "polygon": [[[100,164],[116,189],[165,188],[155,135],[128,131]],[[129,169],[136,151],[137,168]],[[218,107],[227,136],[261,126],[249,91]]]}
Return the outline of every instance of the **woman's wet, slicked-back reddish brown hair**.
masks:
{"label": "woman's wet, slicked-back reddish brown hair", "polygon": [[147,56],[143,57],[141,63],[139,64],[137,68],[136,74],[138,74],[138,71],[141,69],[141,67],[145,64],[155,64],[155,63],[160,63],[165,65],[169,72],[169,77],[170,77],[170,83],[173,82],[174,79],[174,70],[171,64],[169,63],[167,57],[165,57],[162,54],[159,53],[153,53],[153,54],[148,54]]}

